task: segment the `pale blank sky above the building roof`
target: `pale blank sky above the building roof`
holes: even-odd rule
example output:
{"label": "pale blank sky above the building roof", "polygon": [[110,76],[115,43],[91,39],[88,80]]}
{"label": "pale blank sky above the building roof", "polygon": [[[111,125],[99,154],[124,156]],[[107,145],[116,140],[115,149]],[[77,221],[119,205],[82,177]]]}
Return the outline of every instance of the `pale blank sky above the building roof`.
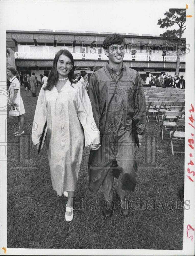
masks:
{"label": "pale blank sky above the building roof", "polygon": [[1,26],[3,25],[6,30],[52,29],[160,35],[166,29],[157,25],[158,19],[164,18],[164,13],[169,8],[186,8],[186,2],[183,0],[3,0],[0,1]]}

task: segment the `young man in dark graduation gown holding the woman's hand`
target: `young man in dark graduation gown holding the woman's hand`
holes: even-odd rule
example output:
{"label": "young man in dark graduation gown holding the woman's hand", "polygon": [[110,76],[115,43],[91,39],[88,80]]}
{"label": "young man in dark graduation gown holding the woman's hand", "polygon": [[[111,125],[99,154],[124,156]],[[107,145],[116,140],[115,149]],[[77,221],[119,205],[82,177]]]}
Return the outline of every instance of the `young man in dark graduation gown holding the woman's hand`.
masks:
{"label": "young man in dark graduation gown holding the woman's hand", "polygon": [[104,52],[106,65],[91,79],[88,94],[94,120],[101,134],[99,150],[89,156],[89,190],[96,193],[103,186],[104,216],[112,216],[113,181],[118,179],[117,196],[124,215],[129,214],[126,190],[137,183],[136,147],[141,145],[146,121],[146,104],[141,78],[137,71],[123,63],[124,38],[108,35]]}

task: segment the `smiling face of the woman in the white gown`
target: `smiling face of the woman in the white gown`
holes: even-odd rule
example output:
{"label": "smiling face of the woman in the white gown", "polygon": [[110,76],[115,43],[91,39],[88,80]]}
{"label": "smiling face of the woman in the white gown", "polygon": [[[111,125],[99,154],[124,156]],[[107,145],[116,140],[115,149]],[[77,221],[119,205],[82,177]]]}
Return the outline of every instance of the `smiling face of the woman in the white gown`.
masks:
{"label": "smiling face of the woman in the white gown", "polygon": [[71,63],[71,60],[63,54],[60,55],[56,65],[58,78],[62,79],[67,77],[72,67],[73,64]]}

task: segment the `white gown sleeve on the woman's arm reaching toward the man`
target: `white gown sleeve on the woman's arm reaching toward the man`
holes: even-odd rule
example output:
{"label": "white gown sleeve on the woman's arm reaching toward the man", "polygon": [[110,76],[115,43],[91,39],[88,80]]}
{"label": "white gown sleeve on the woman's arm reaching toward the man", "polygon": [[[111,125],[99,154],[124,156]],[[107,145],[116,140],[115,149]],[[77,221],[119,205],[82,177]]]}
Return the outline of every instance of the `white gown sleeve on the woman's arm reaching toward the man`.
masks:
{"label": "white gown sleeve on the woman's arm reaching toward the man", "polygon": [[91,144],[99,144],[100,132],[93,118],[91,102],[87,91],[80,82],[77,83],[77,90],[77,116],[83,126],[85,147]]}

